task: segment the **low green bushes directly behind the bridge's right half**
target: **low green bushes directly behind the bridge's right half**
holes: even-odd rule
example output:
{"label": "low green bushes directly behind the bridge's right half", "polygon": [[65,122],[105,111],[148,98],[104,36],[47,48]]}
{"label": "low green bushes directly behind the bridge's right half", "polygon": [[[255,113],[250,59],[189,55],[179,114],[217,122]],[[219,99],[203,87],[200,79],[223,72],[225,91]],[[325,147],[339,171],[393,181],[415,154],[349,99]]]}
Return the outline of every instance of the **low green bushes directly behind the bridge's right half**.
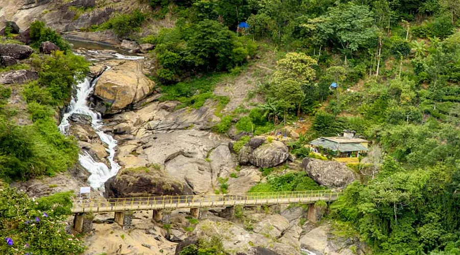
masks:
{"label": "low green bushes directly behind the bridge's right half", "polygon": [[281,192],[321,190],[306,172],[289,172],[284,175],[268,175],[266,183],[252,187],[249,192]]}

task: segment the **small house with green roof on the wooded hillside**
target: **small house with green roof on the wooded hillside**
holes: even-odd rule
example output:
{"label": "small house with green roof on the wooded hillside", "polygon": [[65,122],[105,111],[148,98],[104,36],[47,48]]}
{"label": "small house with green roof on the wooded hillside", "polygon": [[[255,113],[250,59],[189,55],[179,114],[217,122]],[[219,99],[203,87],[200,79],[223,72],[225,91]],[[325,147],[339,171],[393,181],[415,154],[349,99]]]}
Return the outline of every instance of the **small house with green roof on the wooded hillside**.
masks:
{"label": "small house with green roof on the wooded hillside", "polygon": [[369,141],[355,137],[355,131],[345,130],[343,136],[320,137],[310,142],[313,151],[334,158],[358,157],[367,154]]}

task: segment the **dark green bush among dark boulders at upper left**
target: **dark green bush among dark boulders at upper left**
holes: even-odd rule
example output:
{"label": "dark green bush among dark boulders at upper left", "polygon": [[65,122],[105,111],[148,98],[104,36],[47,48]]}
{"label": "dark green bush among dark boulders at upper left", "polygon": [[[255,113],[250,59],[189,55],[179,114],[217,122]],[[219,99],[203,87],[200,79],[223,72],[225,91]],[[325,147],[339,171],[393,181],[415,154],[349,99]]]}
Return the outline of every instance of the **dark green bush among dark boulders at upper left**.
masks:
{"label": "dark green bush among dark boulders at upper left", "polygon": [[35,20],[30,24],[30,39],[32,46],[38,48],[42,42],[50,41],[56,44],[63,52],[70,49],[70,45],[51,28],[45,28],[44,22]]}

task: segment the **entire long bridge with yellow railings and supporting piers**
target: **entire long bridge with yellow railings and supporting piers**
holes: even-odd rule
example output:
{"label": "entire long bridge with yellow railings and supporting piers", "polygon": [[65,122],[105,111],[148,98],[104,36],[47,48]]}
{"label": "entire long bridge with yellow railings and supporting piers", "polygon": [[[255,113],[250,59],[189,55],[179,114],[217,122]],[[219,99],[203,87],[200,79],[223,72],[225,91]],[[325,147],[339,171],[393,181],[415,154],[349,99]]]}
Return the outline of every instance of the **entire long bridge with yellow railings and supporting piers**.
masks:
{"label": "entire long bridge with yellow railings and supporting piers", "polygon": [[[225,208],[223,211],[232,215],[235,206],[254,207],[262,205],[278,205],[286,203],[308,203],[310,211],[314,211],[316,201],[333,201],[342,193],[333,190],[264,192],[244,194],[218,195],[182,195],[182,196],[151,196],[109,199],[79,199],[74,202],[72,213],[75,214],[74,227],[79,232],[84,231],[85,216],[94,213],[115,213],[115,221],[122,226],[130,224],[129,215],[133,211],[153,211],[153,219],[162,219],[164,209],[190,209],[192,217],[199,217],[199,209]],[[92,221],[92,219],[91,219]]]}

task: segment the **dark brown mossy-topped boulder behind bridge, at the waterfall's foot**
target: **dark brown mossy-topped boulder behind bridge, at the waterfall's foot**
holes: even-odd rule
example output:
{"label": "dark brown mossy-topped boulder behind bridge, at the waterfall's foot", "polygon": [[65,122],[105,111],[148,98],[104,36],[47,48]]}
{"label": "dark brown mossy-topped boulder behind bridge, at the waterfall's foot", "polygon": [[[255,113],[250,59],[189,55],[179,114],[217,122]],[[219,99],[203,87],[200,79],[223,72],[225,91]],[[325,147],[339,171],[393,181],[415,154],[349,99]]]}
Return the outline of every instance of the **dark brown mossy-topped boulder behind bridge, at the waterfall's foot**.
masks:
{"label": "dark brown mossy-topped boulder behind bridge, at the waterfall's foot", "polygon": [[109,198],[192,194],[157,165],[121,170],[105,182],[105,192]]}

